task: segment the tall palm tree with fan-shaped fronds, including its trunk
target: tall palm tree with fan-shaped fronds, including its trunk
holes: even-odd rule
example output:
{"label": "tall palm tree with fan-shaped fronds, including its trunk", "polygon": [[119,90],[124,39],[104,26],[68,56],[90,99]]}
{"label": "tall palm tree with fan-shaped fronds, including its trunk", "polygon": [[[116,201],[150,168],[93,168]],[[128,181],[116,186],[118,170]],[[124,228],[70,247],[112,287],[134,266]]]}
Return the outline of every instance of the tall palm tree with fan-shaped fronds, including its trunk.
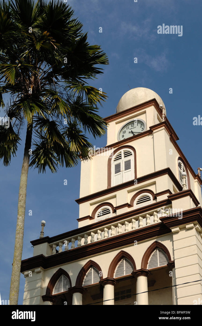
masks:
{"label": "tall palm tree with fan-shaped fronds, including its trunk", "polygon": [[[89,45],[82,24],[62,1],[0,1],[0,105],[10,118],[0,126],[0,159],[8,166],[27,124],[22,163],[10,304],[18,304],[29,167],[56,172],[88,159],[85,136],[105,133],[96,113],[106,94],[87,81],[108,64],[100,46]],[[7,105],[4,95],[9,95]],[[31,156],[31,158],[30,158]]]}

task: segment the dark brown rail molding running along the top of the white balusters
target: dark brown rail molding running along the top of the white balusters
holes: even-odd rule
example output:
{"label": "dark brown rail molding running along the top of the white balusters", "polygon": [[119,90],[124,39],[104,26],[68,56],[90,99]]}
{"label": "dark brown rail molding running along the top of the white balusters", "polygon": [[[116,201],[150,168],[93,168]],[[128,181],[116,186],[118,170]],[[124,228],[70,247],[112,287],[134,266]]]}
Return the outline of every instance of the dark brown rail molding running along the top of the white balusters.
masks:
{"label": "dark brown rail molding running along the top of the white balusters", "polygon": [[84,234],[84,233],[86,233],[86,232],[88,232],[90,230],[99,229],[99,228],[105,226],[106,224],[113,224],[115,222],[120,221],[121,219],[125,219],[125,218],[127,219],[127,218],[135,216],[135,215],[144,214],[144,213],[146,213],[148,211],[152,211],[152,210],[155,210],[155,209],[157,209],[159,207],[167,206],[169,204],[171,204],[171,201],[169,199],[164,199],[164,200],[155,202],[153,204],[143,206],[143,207],[139,207],[139,208],[137,208],[135,210],[125,212],[125,213],[120,214],[120,215],[115,215],[115,216],[107,218],[105,220],[101,220],[99,222],[83,226],[83,227],[75,229],[75,230],[71,230],[71,231],[68,231],[68,232],[65,232],[65,233],[62,233],[62,234],[58,234],[58,235],[55,235],[53,237],[47,236],[47,237],[36,239],[36,240],[30,241],[30,242],[31,242],[32,245],[42,244],[42,243],[46,243],[46,242],[49,243],[49,244],[50,243],[55,243],[55,242],[61,241],[61,239],[70,238],[70,237],[75,236],[76,234],[82,234],[82,233]]}

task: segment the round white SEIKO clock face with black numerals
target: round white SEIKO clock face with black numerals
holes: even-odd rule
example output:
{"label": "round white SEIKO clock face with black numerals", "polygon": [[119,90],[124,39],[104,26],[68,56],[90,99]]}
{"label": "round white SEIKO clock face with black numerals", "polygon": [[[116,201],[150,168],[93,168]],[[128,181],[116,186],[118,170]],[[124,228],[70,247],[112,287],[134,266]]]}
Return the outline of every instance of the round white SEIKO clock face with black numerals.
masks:
{"label": "round white SEIKO clock face with black numerals", "polygon": [[146,122],[142,119],[133,119],[127,122],[121,127],[118,132],[117,139],[121,141],[123,139],[139,135],[141,132],[146,130]]}

